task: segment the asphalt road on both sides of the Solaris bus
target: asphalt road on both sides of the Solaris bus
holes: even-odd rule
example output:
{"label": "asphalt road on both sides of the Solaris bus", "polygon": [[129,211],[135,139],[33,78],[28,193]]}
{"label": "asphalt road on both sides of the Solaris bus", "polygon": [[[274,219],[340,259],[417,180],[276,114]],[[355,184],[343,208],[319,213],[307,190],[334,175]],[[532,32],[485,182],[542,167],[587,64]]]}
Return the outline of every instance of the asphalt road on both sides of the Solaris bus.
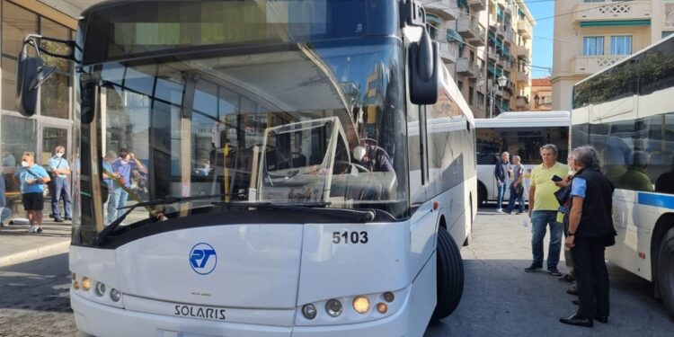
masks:
{"label": "asphalt road on both sides of the Solaris bus", "polygon": [[[569,284],[523,271],[531,256],[523,217],[480,211],[473,242],[461,250],[463,299],[453,315],[431,323],[425,337],[672,335],[674,322],[652,297],[650,283],[610,265],[609,323],[591,329],[560,324],[576,308],[564,292]],[[0,268],[0,337],[81,336],[69,305],[69,278],[67,254]]]}

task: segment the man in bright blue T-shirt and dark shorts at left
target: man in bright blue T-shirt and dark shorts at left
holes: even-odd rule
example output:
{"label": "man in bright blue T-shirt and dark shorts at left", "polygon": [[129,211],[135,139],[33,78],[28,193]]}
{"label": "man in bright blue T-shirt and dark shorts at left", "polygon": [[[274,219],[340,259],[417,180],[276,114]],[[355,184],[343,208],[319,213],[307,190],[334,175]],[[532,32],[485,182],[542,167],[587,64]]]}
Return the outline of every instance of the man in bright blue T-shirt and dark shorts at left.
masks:
{"label": "man in bright blue T-shirt and dark shorts at left", "polygon": [[42,209],[44,208],[44,184],[50,181],[49,174],[30,153],[22,156],[21,168],[16,170],[13,180],[19,185],[23,208],[28,214],[31,226],[28,233],[42,233]]}

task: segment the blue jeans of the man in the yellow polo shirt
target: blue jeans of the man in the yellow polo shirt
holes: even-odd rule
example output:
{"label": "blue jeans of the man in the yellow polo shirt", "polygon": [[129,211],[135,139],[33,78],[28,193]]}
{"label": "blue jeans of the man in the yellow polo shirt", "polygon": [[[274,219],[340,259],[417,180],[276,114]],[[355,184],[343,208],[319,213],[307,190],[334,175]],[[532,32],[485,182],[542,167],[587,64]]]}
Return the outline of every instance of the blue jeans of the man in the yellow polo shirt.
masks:
{"label": "blue jeans of the man in the yellow polo shirt", "polygon": [[543,238],[545,226],[550,226],[550,245],[547,251],[547,269],[557,268],[562,249],[563,226],[557,222],[556,210],[535,210],[531,214],[531,253],[533,264],[543,267]]}

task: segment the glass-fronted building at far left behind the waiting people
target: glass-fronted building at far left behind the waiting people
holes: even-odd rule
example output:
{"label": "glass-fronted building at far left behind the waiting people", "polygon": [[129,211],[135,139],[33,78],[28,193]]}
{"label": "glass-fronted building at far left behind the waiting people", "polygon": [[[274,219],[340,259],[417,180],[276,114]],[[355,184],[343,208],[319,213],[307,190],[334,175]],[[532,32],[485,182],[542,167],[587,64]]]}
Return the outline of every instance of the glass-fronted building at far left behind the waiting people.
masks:
{"label": "glass-fronted building at far left behind the waiting people", "polygon": [[[7,197],[18,195],[12,175],[24,153],[31,153],[36,164],[48,164],[56,146],[67,148],[65,157],[73,159],[73,65],[63,59],[45,57],[57,71],[40,86],[38,111],[22,116],[16,108],[16,67],[23,38],[30,33],[63,40],[73,38],[77,17],[94,0],[2,0],[2,59],[0,59],[0,154]],[[58,49],[58,45],[50,45]]]}

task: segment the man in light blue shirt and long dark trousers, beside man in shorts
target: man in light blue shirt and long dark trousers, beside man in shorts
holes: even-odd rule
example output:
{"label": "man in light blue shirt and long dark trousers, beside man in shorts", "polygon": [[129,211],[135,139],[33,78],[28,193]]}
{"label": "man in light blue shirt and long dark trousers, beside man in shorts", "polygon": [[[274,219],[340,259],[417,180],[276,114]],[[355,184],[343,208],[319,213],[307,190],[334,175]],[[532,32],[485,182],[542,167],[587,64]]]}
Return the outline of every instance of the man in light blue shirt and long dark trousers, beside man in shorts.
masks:
{"label": "man in light blue shirt and long dark trousers, beside man in shorts", "polygon": [[[72,220],[70,215],[71,200],[70,200],[70,166],[67,160],[63,157],[66,153],[66,148],[57,146],[54,149],[55,155],[49,158],[49,173],[51,176],[51,213],[54,215],[55,222],[63,222]],[[58,209],[59,200],[63,199],[64,216],[61,217]]]}

